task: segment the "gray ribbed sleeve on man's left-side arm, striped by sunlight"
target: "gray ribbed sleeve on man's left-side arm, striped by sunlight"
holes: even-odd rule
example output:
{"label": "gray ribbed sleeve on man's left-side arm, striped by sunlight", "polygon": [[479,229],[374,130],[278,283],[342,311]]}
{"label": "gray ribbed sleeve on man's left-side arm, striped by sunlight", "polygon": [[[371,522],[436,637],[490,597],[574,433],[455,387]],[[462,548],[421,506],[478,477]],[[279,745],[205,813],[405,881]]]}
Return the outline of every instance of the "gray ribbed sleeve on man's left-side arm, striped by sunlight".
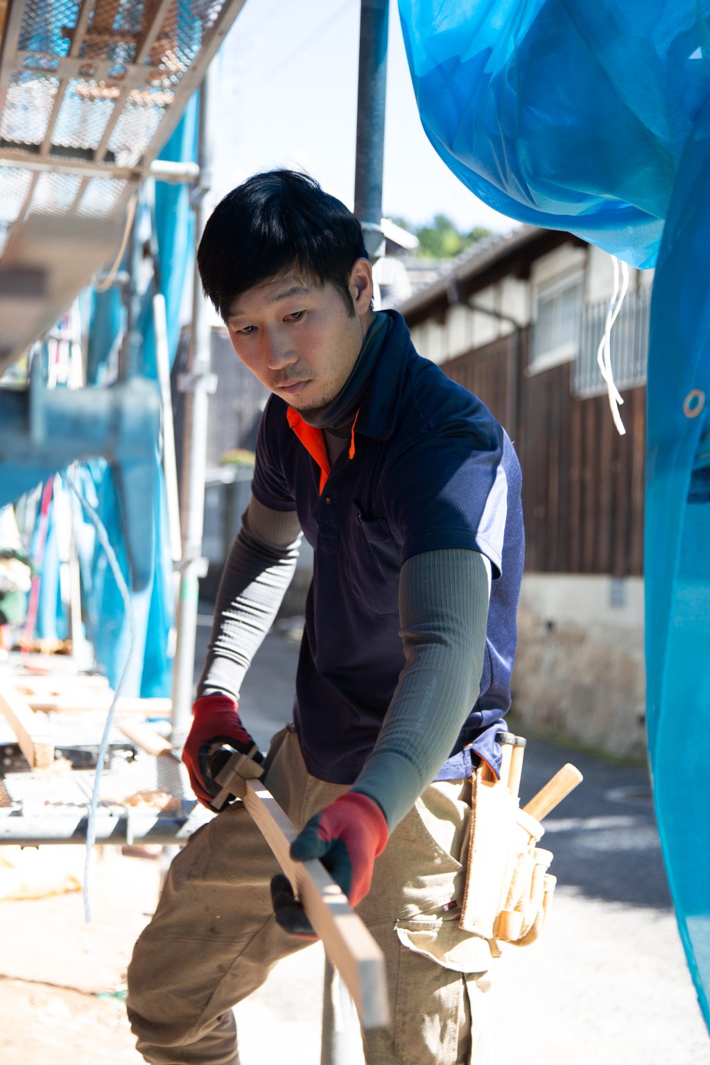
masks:
{"label": "gray ribbed sleeve on man's left-side arm, striped by sunlight", "polygon": [[227,692],[238,699],[291,584],[300,542],[295,510],[271,510],[251,496],[219,583],[198,697]]}

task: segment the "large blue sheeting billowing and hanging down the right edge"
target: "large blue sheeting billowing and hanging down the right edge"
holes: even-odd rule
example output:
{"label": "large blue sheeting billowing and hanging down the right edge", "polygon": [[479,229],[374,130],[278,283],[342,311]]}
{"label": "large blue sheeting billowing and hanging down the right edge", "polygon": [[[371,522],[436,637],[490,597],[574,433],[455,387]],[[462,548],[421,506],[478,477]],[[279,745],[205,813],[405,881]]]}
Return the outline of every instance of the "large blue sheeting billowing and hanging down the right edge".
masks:
{"label": "large blue sheeting billowing and hanging down the right edge", "polygon": [[648,750],[710,1025],[710,0],[399,0],[422,122],[495,210],[657,266],[646,463]]}

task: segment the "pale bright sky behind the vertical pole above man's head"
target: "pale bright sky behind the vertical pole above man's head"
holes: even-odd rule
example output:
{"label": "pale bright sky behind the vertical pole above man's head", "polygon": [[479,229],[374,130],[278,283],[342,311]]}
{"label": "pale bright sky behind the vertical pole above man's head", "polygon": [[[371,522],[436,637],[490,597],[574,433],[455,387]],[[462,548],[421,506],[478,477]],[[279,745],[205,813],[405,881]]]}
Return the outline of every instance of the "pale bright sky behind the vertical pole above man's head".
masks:
{"label": "pale bright sky behind the vertical pole above man's head", "polygon": [[[220,52],[215,187],[257,170],[303,168],[352,208],[360,0],[247,0]],[[462,230],[516,223],[477,199],[419,121],[396,0],[390,0],[382,213],[413,226],[447,214]]]}

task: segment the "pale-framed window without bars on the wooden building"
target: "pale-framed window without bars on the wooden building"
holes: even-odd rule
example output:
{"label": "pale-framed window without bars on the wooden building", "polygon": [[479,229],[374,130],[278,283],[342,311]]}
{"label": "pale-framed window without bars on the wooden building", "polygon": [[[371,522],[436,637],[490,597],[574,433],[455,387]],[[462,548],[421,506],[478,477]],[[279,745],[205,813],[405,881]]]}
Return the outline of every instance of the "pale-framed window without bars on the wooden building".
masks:
{"label": "pale-framed window without bars on the wooden building", "polygon": [[536,291],[529,373],[569,362],[579,346],[582,298],[580,274],[541,285]]}

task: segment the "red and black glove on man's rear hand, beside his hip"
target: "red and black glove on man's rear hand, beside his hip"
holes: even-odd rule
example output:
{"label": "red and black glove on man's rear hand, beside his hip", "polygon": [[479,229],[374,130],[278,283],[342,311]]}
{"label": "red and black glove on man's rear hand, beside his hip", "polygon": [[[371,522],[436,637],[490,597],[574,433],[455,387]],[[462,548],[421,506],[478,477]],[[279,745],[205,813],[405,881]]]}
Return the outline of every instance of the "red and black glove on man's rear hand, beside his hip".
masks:
{"label": "red and black glove on man's rear hand, beside his hip", "polygon": [[[182,750],[182,760],[187,766],[193,791],[208,809],[212,809],[210,800],[220,790],[209,771],[213,751],[220,743],[229,743],[240,754],[250,754],[255,747],[242,724],[236,706],[231,695],[203,695],[193,705],[193,724]],[[260,751],[254,751],[251,757],[254,761],[263,761]]]}

